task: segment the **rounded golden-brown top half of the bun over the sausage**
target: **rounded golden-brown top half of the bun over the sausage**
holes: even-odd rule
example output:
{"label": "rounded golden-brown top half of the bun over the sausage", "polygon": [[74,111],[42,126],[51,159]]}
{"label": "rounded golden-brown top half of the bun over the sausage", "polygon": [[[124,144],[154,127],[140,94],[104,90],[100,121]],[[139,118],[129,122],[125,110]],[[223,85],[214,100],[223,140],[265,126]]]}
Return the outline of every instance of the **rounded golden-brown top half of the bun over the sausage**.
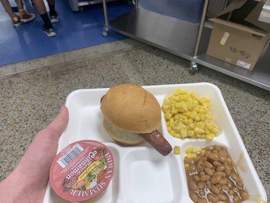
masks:
{"label": "rounded golden-brown top half of the bun over the sausage", "polygon": [[137,85],[111,87],[100,108],[111,125],[128,132],[150,133],[161,124],[161,108],[156,97]]}

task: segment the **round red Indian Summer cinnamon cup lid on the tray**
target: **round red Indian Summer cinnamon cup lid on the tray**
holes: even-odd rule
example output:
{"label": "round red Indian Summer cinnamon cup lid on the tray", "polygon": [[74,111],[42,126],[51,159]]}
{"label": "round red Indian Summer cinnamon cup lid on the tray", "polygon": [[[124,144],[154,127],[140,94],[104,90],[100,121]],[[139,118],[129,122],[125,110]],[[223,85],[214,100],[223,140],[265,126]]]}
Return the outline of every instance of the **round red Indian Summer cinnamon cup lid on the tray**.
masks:
{"label": "round red Indian Summer cinnamon cup lid on the tray", "polygon": [[114,172],[111,151],[94,140],[74,142],[55,157],[50,183],[55,193],[68,201],[91,199],[104,191]]}

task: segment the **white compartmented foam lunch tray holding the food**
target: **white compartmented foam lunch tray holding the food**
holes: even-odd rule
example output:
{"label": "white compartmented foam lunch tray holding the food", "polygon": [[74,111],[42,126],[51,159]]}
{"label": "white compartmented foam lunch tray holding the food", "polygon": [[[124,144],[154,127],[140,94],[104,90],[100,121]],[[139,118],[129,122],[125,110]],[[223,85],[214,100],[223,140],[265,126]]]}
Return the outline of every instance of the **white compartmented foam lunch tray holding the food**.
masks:
{"label": "white compartmented foam lunch tray holding the food", "polygon": [[[213,144],[226,146],[235,163],[242,157],[242,167],[238,167],[237,170],[251,195],[251,200],[246,202],[267,201],[265,190],[217,86],[210,83],[193,83],[145,86],[144,88],[156,96],[160,105],[164,98],[177,88],[194,91],[199,97],[210,97],[214,123],[220,127],[219,136],[213,141],[177,139],[170,136],[166,129],[165,119],[162,118],[159,130],[172,147],[175,145],[181,147],[180,155],[172,152],[164,157],[147,142],[135,147],[123,147],[114,143],[102,126],[100,98],[108,91],[108,88],[81,89],[71,92],[66,99],[69,123],[59,139],[58,152],[75,141],[97,140],[110,148],[115,160],[113,179],[106,192],[95,200],[96,203],[192,202],[188,196],[183,164],[185,148],[190,145],[207,147]],[[66,202],[68,201],[55,194],[49,183],[43,203]]]}

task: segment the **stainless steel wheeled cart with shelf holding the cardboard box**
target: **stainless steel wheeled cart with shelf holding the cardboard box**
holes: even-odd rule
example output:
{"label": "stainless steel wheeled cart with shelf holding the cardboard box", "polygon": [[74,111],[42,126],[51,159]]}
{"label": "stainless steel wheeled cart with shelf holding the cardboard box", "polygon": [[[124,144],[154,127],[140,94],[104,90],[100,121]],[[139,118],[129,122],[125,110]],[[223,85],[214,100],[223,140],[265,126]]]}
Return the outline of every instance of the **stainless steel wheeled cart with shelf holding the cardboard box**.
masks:
{"label": "stainless steel wheeled cart with shelf holding the cardboard box", "polygon": [[206,55],[211,28],[205,27],[209,0],[205,0],[201,22],[190,23],[156,12],[135,8],[110,22],[107,14],[107,0],[103,1],[105,26],[102,35],[107,36],[113,29],[130,38],[158,47],[190,60],[190,73],[194,74],[198,64],[207,66],[223,74],[270,91],[270,49],[257,62],[253,71],[247,71],[233,64]]}

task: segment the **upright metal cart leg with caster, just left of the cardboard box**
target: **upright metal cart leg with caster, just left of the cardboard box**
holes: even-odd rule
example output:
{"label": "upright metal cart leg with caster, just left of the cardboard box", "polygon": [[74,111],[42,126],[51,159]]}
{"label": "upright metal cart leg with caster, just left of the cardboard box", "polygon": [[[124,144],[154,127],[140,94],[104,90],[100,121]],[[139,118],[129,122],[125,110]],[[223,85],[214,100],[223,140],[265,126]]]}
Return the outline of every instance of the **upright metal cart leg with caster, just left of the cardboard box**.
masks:
{"label": "upright metal cart leg with caster, just left of the cardboard box", "polygon": [[[206,17],[208,5],[209,5],[209,0],[205,0],[204,9],[203,9],[203,13],[202,13],[202,18],[201,18],[201,22],[200,22],[199,29],[198,29],[197,40],[196,40],[196,44],[195,44],[195,48],[194,48],[194,55],[193,55],[194,58],[196,58],[198,56],[198,51],[199,51],[201,38],[202,38],[202,34],[203,34],[205,17]],[[198,70],[198,64],[196,62],[194,62],[194,61],[191,61],[190,62],[189,73],[195,74],[195,72],[197,70]]]}

